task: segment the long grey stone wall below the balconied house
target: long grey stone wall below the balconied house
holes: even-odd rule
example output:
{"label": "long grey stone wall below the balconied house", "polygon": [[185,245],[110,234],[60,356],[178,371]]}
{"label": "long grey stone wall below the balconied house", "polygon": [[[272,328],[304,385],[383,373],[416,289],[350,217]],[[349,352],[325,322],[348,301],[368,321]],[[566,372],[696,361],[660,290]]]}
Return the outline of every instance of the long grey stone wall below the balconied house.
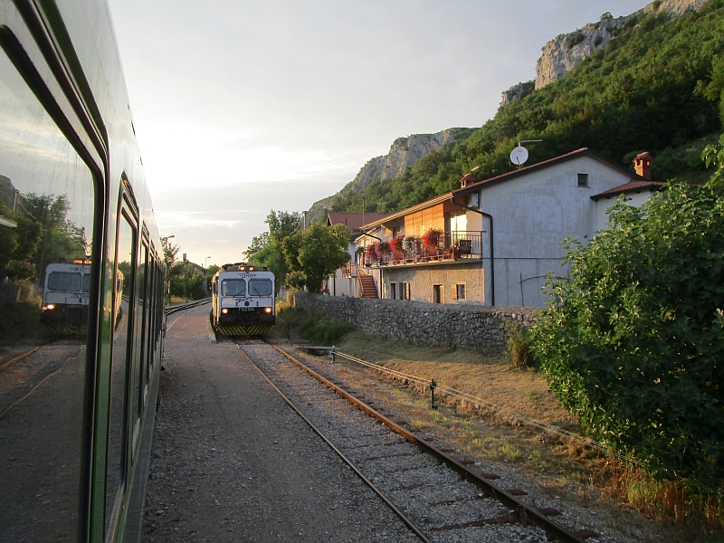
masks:
{"label": "long grey stone wall below the balconied house", "polygon": [[315,316],[344,320],[356,329],[424,347],[468,348],[500,354],[510,330],[506,321],[529,327],[538,308],[436,304],[407,300],[367,300],[297,292],[296,306]]}

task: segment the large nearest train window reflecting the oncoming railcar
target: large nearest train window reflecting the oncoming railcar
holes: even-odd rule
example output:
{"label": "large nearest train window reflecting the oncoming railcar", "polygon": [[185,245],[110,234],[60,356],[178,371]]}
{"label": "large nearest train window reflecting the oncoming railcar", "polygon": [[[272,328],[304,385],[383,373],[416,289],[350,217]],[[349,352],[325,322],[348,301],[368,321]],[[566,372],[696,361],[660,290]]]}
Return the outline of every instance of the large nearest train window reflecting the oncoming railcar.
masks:
{"label": "large nearest train window reflecting the oncoming railcar", "polygon": [[0,540],[77,540],[95,179],[2,49],[0,142]]}

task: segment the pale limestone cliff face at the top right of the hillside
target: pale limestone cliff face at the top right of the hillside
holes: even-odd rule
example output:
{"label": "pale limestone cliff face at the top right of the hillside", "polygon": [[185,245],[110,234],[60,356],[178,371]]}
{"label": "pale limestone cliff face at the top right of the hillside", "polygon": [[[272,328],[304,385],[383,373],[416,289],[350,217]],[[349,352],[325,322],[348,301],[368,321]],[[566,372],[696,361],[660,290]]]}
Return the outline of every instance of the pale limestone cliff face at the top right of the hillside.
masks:
{"label": "pale limestone cliff face at the top right of the hillside", "polygon": [[625,24],[635,24],[633,17],[645,13],[665,13],[670,18],[681,17],[692,9],[699,9],[708,0],[661,0],[652,2],[643,10],[614,19],[602,17],[598,23],[586,24],[573,33],[560,34],[543,47],[543,54],[536,65],[536,89],[561,79],[579,62],[590,57],[597,49],[621,32]]}

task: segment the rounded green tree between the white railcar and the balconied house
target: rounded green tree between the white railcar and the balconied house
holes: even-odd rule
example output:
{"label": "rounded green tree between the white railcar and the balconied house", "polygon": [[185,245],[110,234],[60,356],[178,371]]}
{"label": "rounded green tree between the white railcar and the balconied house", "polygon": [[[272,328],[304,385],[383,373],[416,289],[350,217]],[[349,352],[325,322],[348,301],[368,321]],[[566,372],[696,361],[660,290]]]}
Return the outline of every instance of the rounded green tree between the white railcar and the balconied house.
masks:
{"label": "rounded green tree between the white railcar and the balconied house", "polygon": [[322,281],[329,279],[349,261],[347,248],[351,233],[343,224],[329,227],[315,223],[306,230],[287,236],[282,248],[290,270],[291,285],[319,292]]}

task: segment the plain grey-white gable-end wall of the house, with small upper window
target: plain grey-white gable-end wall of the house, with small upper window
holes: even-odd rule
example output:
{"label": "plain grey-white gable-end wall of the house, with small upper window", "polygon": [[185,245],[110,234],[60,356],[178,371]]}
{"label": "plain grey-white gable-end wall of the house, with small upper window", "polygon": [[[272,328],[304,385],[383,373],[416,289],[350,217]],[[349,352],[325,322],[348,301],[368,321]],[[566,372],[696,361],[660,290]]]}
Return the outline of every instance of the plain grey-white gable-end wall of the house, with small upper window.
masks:
{"label": "plain grey-white gable-end wall of the house, with small upper window", "polygon": [[[578,187],[578,174],[588,174],[588,186]],[[481,210],[493,217],[495,305],[542,307],[541,277],[566,276],[561,267],[564,239],[586,243],[598,230],[595,195],[631,179],[591,157],[576,157],[481,189]],[[491,300],[491,224],[483,219],[486,304]],[[521,289],[522,287],[522,289]]]}

